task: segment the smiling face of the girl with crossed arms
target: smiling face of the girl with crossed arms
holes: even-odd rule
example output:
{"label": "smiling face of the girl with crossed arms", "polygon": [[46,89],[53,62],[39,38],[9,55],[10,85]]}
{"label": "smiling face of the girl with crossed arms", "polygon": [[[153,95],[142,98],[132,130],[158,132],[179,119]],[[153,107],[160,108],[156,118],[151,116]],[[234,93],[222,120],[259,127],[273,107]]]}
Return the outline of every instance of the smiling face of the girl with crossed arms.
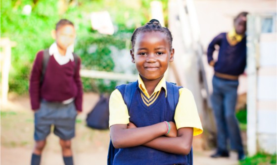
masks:
{"label": "smiling face of the girl with crossed arms", "polygon": [[173,61],[174,49],[170,49],[164,33],[138,34],[131,56],[142,80],[160,80],[163,77],[169,62]]}

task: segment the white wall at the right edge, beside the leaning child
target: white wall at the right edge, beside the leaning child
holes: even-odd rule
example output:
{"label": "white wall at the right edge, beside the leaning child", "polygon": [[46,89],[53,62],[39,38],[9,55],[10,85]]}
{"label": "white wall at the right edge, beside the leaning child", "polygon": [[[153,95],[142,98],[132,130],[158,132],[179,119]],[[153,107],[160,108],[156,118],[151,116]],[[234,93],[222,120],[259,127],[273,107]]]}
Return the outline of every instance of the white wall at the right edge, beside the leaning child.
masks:
{"label": "white wall at the right edge, beside the leaning child", "polygon": [[277,42],[276,33],[261,33],[257,71],[258,148],[276,153],[277,132]]}

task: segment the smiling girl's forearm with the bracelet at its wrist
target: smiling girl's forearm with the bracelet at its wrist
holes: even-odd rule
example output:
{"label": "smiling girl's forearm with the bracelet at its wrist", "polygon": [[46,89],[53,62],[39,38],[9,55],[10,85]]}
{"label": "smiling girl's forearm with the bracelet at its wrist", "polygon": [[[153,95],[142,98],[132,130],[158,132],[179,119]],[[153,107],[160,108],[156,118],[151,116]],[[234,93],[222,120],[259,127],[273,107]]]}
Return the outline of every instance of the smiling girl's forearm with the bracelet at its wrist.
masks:
{"label": "smiling girl's forearm with the bracelet at its wrist", "polygon": [[154,125],[129,128],[125,124],[113,125],[110,128],[111,140],[115,148],[135,147],[145,144],[167,133],[164,122]]}

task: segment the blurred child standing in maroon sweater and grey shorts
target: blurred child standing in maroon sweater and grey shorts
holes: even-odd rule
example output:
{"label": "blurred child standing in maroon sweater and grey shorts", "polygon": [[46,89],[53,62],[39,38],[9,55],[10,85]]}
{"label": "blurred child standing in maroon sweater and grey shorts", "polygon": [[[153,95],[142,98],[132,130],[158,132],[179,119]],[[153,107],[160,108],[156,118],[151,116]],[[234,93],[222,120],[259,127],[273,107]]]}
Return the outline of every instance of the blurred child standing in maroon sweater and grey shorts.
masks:
{"label": "blurred child standing in maroon sweater and grey shorts", "polygon": [[[40,164],[51,125],[54,125],[54,134],[60,138],[65,165],[73,165],[71,139],[75,136],[76,115],[82,111],[81,59],[73,55],[76,36],[73,23],[61,19],[52,36],[56,41],[46,50],[49,54],[44,51],[37,54],[30,77],[29,93],[32,110],[35,111],[36,141],[31,165]],[[44,55],[49,55],[45,73]]]}

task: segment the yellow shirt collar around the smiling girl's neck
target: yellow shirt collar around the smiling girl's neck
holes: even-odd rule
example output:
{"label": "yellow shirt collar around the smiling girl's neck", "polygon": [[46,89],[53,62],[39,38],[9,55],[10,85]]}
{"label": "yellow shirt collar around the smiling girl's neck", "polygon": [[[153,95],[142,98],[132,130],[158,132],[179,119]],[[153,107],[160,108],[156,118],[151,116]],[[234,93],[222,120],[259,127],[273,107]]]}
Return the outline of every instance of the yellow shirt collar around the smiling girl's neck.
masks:
{"label": "yellow shirt collar around the smiling girl's neck", "polygon": [[145,88],[145,85],[140,77],[140,75],[138,76],[138,82],[139,82],[139,89],[144,93],[144,95],[147,97],[147,98],[150,98],[153,94],[155,94],[156,92],[159,92],[162,88],[165,89],[165,97],[167,96],[167,91],[166,91],[166,82],[165,82],[165,77],[163,77],[160,82],[158,83],[158,85],[156,86],[154,92],[152,93],[151,96],[149,96],[146,88]]}

